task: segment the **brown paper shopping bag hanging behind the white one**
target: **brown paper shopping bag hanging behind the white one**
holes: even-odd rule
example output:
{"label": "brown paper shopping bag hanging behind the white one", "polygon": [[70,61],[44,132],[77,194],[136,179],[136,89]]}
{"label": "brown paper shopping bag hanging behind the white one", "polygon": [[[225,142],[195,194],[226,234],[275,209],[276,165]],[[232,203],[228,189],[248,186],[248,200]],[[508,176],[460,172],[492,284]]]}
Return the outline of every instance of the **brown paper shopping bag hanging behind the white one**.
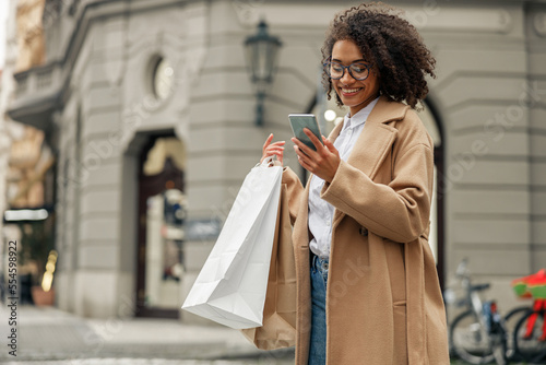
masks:
{"label": "brown paper shopping bag hanging behind the white one", "polygon": [[281,187],[281,203],[263,307],[263,325],[244,329],[241,332],[261,350],[289,348],[296,344],[296,263],[285,185]]}

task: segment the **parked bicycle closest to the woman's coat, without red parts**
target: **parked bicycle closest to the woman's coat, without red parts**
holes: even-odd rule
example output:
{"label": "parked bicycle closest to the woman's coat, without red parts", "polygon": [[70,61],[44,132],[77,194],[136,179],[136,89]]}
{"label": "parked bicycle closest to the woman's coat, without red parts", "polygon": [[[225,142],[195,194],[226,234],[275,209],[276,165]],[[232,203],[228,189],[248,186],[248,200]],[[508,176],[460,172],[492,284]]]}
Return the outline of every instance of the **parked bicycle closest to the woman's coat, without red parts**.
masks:
{"label": "parked bicycle closest to the woman's coat, without red parts", "polygon": [[466,292],[460,305],[466,306],[467,310],[451,322],[449,329],[451,350],[470,364],[488,364],[494,361],[498,365],[508,364],[507,333],[497,310],[497,303],[483,302],[478,294],[489,289],[490,284],[472,284],[467,259],[461,261],[455,275]]}

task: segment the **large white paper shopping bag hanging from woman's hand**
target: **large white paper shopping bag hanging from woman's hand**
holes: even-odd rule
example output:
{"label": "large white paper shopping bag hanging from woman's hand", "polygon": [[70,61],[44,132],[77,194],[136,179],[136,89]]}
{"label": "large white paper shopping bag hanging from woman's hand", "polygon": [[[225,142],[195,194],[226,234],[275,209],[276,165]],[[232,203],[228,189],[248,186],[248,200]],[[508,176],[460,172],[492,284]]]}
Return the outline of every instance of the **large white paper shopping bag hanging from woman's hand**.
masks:
{"label": "large white paper shopping bag hanging from woman's hand", "polygon": [[262,326],[282,173],[265,162],[247,175],[182,309],[235,329]]}

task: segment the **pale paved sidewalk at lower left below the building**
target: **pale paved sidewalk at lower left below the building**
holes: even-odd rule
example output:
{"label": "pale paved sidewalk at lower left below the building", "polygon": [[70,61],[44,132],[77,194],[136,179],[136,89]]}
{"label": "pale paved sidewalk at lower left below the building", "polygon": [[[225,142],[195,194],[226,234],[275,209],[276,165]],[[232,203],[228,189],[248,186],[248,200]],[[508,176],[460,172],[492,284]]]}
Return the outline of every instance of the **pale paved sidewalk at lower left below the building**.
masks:
{"label": "pale paved sidewalk at lower left below the building", "polygon": [[[16,357],[10,355],[8,308],[0,308],[0,363],[40,364],[292,364],[293,350],[257,350],[239,331],[216,326],[187,326],[174,319],[86,319],[52,307],[17,308]],[[117,358],[116,362],[105,362]],[[126,358],[123,361],[123,358]],[[135,360],[140,358],[141,362]],[[165,362],[173,360],[178,362]],[[201,360],[205,362],[180,362]],[[48,363],[47,361],[57,361]],[[61,362],[62,361],[62,362]],[[70,362],[67,362],[70,361]],[[240,362],[238,362],[240,363]],[[36,364],[36,363],[34,363]]]}

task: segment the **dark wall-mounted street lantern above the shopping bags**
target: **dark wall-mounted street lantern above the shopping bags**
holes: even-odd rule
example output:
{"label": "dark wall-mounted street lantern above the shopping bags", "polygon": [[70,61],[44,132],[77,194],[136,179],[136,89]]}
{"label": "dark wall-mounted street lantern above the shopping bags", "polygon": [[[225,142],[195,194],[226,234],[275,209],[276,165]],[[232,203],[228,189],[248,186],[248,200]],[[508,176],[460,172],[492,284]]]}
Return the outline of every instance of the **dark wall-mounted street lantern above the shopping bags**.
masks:
{"label": "dark wall-mounted street lantern above the shopping bags", "polygon": [[268,85],[273,81],[276,68],[277,52],[282,43],[278,37],[268,33],[268,24],[261,21],[258,24],[258,33],[245,40],[247,50],[247,64],[249,67],[250,80],[256,85],[256,125],[263,125],[263,101]]}

